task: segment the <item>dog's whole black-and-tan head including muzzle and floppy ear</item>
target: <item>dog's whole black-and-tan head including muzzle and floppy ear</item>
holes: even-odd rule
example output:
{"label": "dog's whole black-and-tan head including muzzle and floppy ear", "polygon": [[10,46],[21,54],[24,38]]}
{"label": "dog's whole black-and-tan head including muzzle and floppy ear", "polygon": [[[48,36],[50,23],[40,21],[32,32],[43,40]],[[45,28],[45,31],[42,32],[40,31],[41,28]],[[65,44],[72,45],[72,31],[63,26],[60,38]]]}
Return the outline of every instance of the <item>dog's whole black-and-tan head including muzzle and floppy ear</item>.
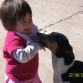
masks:
{"label": "dog's whole black-and-tan head including muzzle and floppy ear", "polygon": [[37,33],[37,40],[40,44],[51,50],[58,58],[63,57],[66,65],[69,65],[75,58],[67,37],[61,33]]}

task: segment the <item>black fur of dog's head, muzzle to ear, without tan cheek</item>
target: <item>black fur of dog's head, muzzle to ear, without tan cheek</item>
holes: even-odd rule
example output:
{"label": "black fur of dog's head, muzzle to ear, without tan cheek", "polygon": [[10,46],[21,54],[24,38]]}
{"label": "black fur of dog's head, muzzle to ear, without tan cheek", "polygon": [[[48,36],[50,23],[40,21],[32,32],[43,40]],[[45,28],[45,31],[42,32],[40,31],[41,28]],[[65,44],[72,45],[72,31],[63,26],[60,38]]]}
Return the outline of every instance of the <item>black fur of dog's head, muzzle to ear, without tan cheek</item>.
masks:
{"label": "black fur of dog's head, muzzle to ear, without tan cheek", "polygon": [[69,41],[66,36],[61,33],[52,32],[49,35],[43,33],[37,33],[38,43],[47,47],[47,43],[41,41],[43,38],[48,38],[50,42],[57,42],[59,47],[57,49],[57,53],[55,54],[58,58],[64,57],[65,65],[69,65],[72,63],[74,57],[73,49],[69,44]]}

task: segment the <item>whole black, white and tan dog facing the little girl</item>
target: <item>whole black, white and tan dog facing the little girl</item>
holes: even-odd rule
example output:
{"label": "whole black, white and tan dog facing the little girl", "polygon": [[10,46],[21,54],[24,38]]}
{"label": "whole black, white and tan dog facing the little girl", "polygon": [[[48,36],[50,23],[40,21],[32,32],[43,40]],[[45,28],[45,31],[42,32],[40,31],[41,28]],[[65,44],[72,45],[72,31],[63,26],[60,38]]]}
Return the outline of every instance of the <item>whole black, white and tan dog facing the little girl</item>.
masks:
{"label": "whole black, white and tan dog facing the little girl", "polygon": [[66,36],[57,32],[38,33],[37,42],[53,54],[54,83],[83,83],[83,62],[75,60]]}

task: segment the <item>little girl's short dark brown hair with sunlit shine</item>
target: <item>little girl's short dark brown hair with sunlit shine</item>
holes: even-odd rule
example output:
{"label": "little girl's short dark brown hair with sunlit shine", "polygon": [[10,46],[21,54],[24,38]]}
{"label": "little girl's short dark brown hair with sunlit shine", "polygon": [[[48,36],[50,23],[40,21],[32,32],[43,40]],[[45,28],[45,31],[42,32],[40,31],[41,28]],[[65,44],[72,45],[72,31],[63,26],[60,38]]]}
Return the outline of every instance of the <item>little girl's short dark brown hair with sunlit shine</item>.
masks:
{"label": "little girl's short dark brown hair with sunlit shine", "polygon": [[29,4],[24,0],[5,0],[0,7],[0,19],[6,30],[16,25],[16,21],[26,13],[32,15]]}

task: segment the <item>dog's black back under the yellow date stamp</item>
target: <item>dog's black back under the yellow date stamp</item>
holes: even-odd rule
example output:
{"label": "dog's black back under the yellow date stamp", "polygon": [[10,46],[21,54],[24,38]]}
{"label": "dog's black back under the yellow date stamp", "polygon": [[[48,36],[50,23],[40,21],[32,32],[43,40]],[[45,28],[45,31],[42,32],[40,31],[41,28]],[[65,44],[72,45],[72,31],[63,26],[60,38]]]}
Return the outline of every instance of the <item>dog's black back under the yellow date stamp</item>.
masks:
{"label": "dog's black back under the yellow date stamp", "polygon": [[62,74],[62,79],[70,83],[83,83],[83,62],[76,60],[72,67]]}

